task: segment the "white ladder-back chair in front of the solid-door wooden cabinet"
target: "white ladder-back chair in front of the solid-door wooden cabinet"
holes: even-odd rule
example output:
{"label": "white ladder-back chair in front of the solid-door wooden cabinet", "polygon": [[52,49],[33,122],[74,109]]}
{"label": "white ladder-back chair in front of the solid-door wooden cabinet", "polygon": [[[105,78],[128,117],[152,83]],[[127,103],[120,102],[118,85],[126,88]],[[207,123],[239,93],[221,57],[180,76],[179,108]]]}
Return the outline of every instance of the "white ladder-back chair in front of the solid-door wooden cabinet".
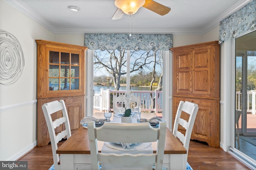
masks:
{"label": "white ladder-back chair in front of the solid-door wooden cabinet", "polygon": [[[180,118],[183,112],[187,113],[189,115],[188,121]],[[192,134],[192,129],[194,126],[194,122],[196,119],[196,114],[198,112],[198,105],[194,104],[192,102],[184,102],[180,101],[180,104],[178,106],[178,110],[176,113],[175,121],[174,121],[174,126],[173,126],[173,135],[177,137],[182,143],[184,148],[187,150],[187,154],[184,154],[183,156],[183,169],[186,170],[186,162],[188,160],[188,148],[189,148],[189,142],[190,142],[190,137]],[[185,135],[184,131],[180,131],[181,125],[185,130]],[[183,132],[183,133],[182,133]]]}

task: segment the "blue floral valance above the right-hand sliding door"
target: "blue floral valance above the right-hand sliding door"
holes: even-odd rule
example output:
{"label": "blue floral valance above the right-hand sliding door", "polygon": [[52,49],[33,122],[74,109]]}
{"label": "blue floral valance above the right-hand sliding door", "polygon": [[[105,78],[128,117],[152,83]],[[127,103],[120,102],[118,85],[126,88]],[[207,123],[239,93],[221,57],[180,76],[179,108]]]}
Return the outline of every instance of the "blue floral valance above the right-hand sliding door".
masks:
{"label": "blue floral valance above the right-hand sliding door", "polygon": [[256,29],[256,0],[220,22],[219,43]]}

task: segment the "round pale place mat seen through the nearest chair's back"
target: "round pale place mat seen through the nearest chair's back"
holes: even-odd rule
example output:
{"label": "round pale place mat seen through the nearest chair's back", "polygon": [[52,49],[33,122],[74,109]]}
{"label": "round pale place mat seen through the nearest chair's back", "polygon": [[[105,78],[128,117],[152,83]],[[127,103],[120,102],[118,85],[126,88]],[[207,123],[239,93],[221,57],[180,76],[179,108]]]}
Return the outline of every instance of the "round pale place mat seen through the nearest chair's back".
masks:
{"label": "round pale place mat seen through the nearest chair's back", "polygon": [[116,143],[112,143],[112,142],[104,142],[104,144],[112,149],[116,149],[116,150],[125,150],[125,151],[131,151],[131,150],[140,150],[140,149],[144,149],[148,146],[151,145],[151,143],[137,143],[134,145],[130,145],[130,148],[123,148],[122,145],[120,144],[116,144]]}

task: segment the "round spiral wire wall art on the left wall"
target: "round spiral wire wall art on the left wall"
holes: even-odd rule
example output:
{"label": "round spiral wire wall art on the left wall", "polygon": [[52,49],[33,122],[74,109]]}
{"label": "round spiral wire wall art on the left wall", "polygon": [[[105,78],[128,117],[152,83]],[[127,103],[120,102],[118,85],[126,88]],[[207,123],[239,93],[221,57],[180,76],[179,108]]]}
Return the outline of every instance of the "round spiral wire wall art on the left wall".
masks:
{"label": "round spiral wire wall art on the left wall", "polygon": [[0,84],[10,85],[21,76],[25,65],[19,41],[0,29]]}

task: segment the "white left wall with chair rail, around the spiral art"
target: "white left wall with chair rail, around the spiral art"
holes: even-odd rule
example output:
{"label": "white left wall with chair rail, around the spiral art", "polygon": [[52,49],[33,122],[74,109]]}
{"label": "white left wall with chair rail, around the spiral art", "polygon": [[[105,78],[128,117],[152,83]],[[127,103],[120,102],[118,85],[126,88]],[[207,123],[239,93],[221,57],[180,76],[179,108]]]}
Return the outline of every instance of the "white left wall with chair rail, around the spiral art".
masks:
{"label": "white left wall with chair rail, around the spiral art", "polygon": [[17,82],[0,84],[0,160],[16,160],[37,140],[35,39],[54,41],[55,35],[2,0],[0,29],[18,39],[25,60]]}

